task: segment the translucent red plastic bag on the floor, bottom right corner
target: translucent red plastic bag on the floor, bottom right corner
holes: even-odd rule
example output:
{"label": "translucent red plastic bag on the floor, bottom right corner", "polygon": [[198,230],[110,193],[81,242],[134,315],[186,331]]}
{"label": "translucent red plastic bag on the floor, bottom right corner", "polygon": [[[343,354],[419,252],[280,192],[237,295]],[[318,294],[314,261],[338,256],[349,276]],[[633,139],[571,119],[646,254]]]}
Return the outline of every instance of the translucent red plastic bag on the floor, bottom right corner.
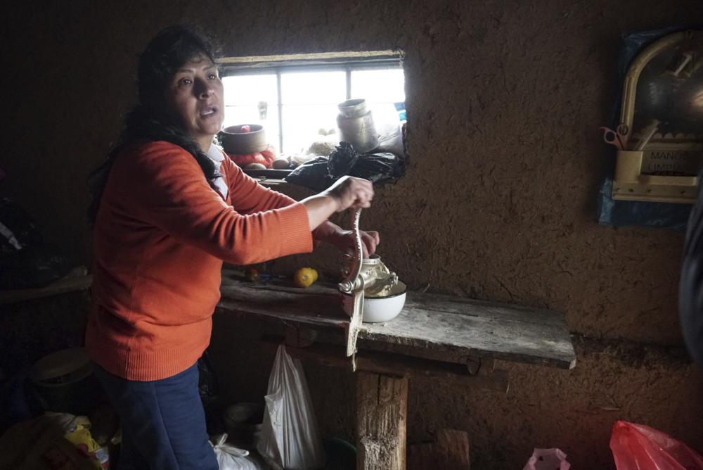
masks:
{"label": "translucent red plastic bag on the floor, bottom right corner", "polygon": [[643,424],[616,421],[610,450],[617,470],[703,470],[695,450]]}

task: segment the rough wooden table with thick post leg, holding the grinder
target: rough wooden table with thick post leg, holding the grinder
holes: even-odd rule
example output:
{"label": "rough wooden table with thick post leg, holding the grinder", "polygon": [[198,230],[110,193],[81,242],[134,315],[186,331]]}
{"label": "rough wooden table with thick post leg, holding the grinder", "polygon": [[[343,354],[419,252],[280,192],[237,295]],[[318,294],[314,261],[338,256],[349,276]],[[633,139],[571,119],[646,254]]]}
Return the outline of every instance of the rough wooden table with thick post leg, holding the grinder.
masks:
{"label": "rough wooden table with thick post leg, holding the grinder", "polygon": [[409,376],[507,390],[508,374],[494,369],[493,360],[576,364],[564,316],[548,310],[411,291],[398,317],[362,324],[350,361],[349,317],[334,285],[249,283],[225,270],[221,292],[218,310],[287,325],[292,355],[356,371],[357,469],[405,468]]}

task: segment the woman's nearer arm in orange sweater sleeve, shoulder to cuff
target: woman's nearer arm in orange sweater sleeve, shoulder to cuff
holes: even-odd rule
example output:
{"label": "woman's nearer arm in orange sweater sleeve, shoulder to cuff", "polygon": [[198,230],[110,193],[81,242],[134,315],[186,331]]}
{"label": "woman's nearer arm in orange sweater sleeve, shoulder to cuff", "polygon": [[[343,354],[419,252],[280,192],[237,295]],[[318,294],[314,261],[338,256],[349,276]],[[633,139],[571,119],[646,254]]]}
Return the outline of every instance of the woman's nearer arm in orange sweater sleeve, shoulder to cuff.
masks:
{"label": "woman's nearer arm in orange sweater sleeve, shoulder to cuff", "polygon": [[110,193],[110,210],[129,220],[135,233],[159,227],[234,264],[309,253],[313,248],[304,205],[243,215],[212,191],[190,154],[165,142],[120,155],[105,191]]}

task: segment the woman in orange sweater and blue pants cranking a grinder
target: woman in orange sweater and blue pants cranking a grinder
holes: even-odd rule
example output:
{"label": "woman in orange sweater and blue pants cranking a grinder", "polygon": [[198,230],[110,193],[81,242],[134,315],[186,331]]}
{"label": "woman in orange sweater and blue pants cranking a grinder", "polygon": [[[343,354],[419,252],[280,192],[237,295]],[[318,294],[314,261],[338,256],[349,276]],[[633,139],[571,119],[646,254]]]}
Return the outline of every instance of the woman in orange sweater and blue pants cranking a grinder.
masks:
{"label": "woman in orange sweater and blue pants cranking a grinder", "polygon": [[[95,263],[86,349],[122,420],[121,469],[217,469],[196,362],[209,343],[222,260],[247,265],[349,246],[327,218],[367,208],[344,178],[295,202],[259,186],[212,142],[224,118],[207,40],[163,30],[139,59],[138,104],[91,175]],[[366,232],[368,253],[379,242]]]}

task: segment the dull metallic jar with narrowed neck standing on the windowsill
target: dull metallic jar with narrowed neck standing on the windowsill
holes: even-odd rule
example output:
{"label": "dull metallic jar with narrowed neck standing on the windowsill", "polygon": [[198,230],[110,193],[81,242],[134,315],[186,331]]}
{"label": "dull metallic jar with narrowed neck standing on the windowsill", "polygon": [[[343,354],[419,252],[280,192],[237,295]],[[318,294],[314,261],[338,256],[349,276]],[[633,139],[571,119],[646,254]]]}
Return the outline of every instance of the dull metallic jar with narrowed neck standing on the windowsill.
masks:
{"label": "dull metallic jar with narrowed neck standing on the windowsill", "polygon": [[365,99],[350,99],[339,103],[337,127],[340,141],[349,142],[358,153],[366,153],[378,147],[378,134],[373,125],[373,115],[366,108]]}

